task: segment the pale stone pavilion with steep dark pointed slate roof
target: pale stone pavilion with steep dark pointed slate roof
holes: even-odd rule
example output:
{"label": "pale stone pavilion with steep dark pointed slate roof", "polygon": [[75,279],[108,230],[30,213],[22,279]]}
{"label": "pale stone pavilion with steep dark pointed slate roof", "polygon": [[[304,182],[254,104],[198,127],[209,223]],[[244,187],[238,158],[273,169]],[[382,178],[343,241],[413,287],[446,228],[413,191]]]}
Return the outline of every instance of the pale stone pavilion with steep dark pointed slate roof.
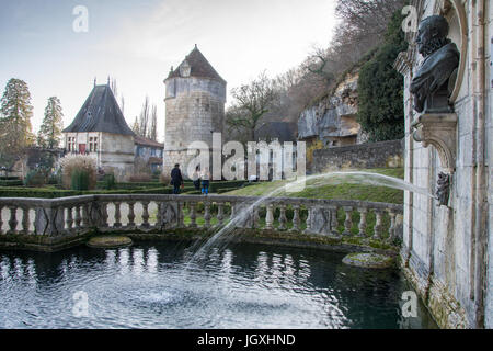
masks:
{"label": "pale stone pavilion with steep dark pointed slate roof", "polygon": [[87,154],[99,168],[127,181],[134,172],[134,132],[108,84],[95,86],[73,122],[62,131],[68,152]]}

